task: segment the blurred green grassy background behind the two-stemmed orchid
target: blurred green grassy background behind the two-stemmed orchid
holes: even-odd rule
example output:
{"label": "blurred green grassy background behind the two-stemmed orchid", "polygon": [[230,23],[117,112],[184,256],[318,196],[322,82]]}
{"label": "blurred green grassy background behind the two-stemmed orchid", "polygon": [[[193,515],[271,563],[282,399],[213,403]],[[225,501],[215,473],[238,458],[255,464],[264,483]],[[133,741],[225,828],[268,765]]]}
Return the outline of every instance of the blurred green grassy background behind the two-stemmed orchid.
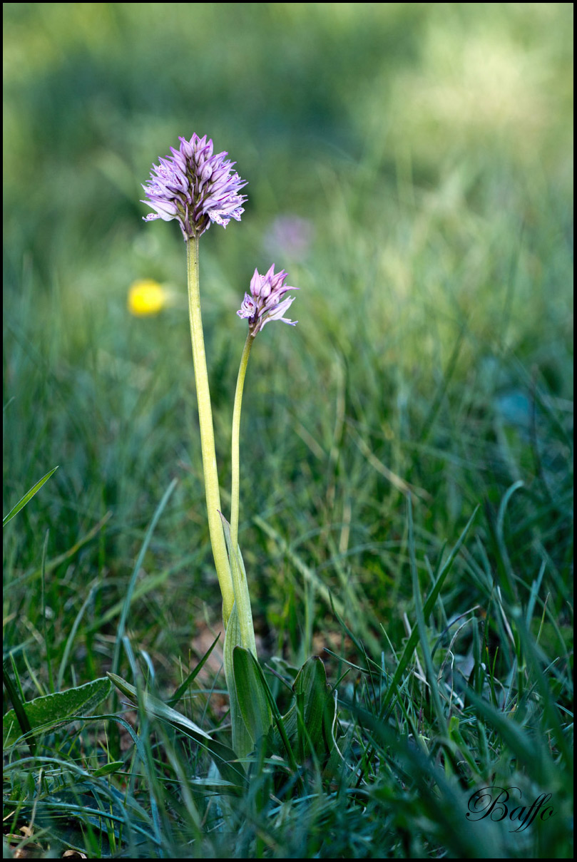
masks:
{"label": "blurred green grassy background behind the two-stemmed orchid", "polygon": [[[58,653],[81,611],[66,682],[106,663],[174,477],[131,632],[170,672],[218,621],[185,248],[177,225],[142,222],[140,203],[153,162],[193,132],[248,180],[242,222],[201,247],[227,509],[235,310],[255,266],[274,262],[300,289],[298,327],[259,336],[243,410],[240,540],[264,642],[305,658],[328,630],[328,590],[367,638],[379,622],[403,636],[406,483],[426,582],[423,559],[477,505],[490,544],[523,480],[513,563],[533,572],[541,548],[559,593],[573,4],[5,3],[3,15],[4,511],[60,465],[5,536],[8,647],[42,652],[48,621]],[[139,278],[172,305],[130,315]],[[455,609],[484,601],[462,571],[451,590]]]}

